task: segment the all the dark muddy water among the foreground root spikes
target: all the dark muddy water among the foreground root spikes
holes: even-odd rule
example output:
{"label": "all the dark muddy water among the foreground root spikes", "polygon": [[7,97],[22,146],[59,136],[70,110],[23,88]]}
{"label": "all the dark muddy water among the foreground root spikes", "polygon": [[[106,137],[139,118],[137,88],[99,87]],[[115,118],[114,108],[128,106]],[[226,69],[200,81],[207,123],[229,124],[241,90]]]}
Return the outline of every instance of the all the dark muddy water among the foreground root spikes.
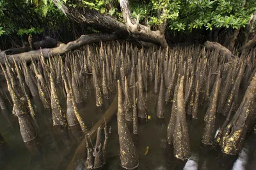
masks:
{"label": "all the dark muddy water among the foreground root spikes", "polygon": [[[102,109],[99,109],[95,106],[93,90],[89,90],[89,93],[88,97],[84,98],[84,102],[80,104],[80,113],[90,128],[108,109],[113,96],[109,102],[104,102]],[[177,160],[173,157],[172,146],[166,144],[166,129],[170,120],[172,103],[164,105],[164,120],[159,121],[156,116],[157,97],[158,94],[153,90],[148,92],[147,106],[150,117],[148,117],[147,123],[140,125],[139,135],[132,136],[140,157],[138,169],[255,169],[256,134],[253,132],[247,135],[244,148],[238,156],[223,155],[220,148],[204,146],[201,143],[207,102],[200,105],[198,120],[192,120],[191,115],[187,115],[191,157],[188,161]],[[31,155],[22,141],[19,123],[17,118],[12,115],[12,109],[2,110],[0,133],[8,143],[8,153],[3,162],[0,162],[0,169],[65,169],[70,162],[80,142],[79,139],[76,139],[69,130],[68,146],[63,146],[63,139],[54,137],[52,133],[51,114],[42,107],[38,99],[34,98],[34,102],[38,112],[36,120],[38,120],[39,129],[36,130],[41,143],[42,155]],[[65,110],[65,99],[62,100],[61,105]],[[224,120],[224,116],[217,114],[216,128],[219,128]],[[109,126],[111,134],[109,134],[106,165],[103,169],[121,169],[116,116],[110,121]]]}

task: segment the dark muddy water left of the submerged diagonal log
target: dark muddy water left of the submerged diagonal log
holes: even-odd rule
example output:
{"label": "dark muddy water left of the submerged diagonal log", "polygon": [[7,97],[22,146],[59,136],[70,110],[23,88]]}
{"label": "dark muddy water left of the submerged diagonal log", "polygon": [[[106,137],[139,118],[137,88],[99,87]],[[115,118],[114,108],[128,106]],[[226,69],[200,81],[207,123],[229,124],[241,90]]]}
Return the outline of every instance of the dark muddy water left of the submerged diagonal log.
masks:
{"label": "dark muddy water left of the submerged diagonal log", "polygon": [[[88,128],[93,127],[97,120],[99,120],[100,116],[108,109],[113,98],[99,109],[95,105],[95,95],[92,92],[93,89],[89,89],[88,97],[83,98],[84,102],[79,104],[79,112]],[[54,136],[51,112],[44,109],[39,98],[33,98],[33,102],[36,106],[38,128],[36,128],[35,122],[33,123],[38,134],[42,154],[32,155],[28,151],[20,135],[18,119],[16,116],[13,116],[12,106],[10,106],[9,109],[0,110],[0,133],[8,144],[7,153],[4,155],[5,158],[3,161],[0,161],[1,170],[65,169],[78,144],[81,142],[81,139],[77,139],[75,135],[72,135],[70,129],[68,129],[69,139],[65,140],[65,138]],[[64,111],[66,110],[66,99],[61,100],[61,107],[63,107]]]}

